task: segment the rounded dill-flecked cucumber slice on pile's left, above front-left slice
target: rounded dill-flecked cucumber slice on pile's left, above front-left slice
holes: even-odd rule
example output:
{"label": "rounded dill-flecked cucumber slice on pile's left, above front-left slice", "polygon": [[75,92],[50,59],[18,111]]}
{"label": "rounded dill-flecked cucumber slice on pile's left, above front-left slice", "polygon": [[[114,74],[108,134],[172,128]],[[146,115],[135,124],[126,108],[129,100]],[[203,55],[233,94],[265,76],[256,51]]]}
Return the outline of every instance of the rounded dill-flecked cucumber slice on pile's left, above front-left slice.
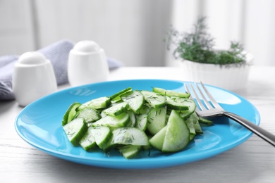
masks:
{"label": "rounded dill-flecked cucumber slice on pile's left, above front-left slice", "polygon": [[84,118],[85,122],[94,122],[102,117],[99,112],[93,108],[83,108],[75,113],[75,118]]}

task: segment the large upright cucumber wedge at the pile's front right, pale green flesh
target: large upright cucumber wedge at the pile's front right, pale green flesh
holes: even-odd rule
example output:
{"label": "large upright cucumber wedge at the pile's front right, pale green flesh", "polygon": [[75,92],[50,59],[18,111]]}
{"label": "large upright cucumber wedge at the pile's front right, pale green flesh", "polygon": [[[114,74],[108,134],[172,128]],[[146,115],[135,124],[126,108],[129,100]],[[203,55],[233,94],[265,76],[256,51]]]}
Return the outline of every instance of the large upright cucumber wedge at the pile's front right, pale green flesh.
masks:
{"label": "large upright cucumber wedge at the pile's front right, pale green flesh", "polygon": [[176,111],[171,111],[161,151],[171,153],[181,151],[190,141],[190,130]]}

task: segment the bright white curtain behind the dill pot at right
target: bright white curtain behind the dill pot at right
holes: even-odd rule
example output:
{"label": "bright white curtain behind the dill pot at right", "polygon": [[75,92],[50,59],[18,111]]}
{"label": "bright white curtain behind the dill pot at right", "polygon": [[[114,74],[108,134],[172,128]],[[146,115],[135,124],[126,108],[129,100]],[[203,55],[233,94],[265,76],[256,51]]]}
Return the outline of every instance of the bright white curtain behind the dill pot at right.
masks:
{"label": "bright white curtain behind the dill pot at right", "polygon": [[[190,31],[199,16],[206,16],[218,49],[238,41],[253,54],[254,65],[275,65],[275,1],[174,0],[171,12],[177,30]],[[166,65],[175,65],[171,51]]]}

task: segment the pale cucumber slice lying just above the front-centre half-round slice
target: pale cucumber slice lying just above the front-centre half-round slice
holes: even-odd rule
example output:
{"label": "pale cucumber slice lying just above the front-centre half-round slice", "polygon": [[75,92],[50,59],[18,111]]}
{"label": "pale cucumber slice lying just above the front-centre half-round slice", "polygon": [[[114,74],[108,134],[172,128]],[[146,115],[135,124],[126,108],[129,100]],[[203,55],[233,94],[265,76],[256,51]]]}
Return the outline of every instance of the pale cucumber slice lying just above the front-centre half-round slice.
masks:
{"label": "pale cucumber slice lying just above the front-centre half-round slice", "polygon": [[117,115],[117,116],[106,115],[104,118],[101,118],[96,122],[92,122],[89,125],[92,125],[93,127],[106,126],[106,127],[116,128],[116,127],[126,127],[129,121],[130,121],[130,116],[128,115],[128,113],[121,113],[120,115]]}

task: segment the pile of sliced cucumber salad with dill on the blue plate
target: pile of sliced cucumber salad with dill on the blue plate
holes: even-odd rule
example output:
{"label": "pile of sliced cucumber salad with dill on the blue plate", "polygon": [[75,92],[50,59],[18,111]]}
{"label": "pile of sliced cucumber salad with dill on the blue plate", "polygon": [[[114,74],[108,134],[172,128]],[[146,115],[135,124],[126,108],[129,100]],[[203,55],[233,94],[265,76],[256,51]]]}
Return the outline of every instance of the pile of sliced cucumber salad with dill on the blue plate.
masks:
{"label": "pile of sliced cucumber salad with dill on the blue plate", "polygon": [[152,91],[128,87],[112,96],[72,103],[62,126],[71,144],[85,151],[116,149],[127,159],[145,149],[182,151],[203,134],[202,124],[213,125],[195,113],[195,101],[189,97],[158,87]]}

